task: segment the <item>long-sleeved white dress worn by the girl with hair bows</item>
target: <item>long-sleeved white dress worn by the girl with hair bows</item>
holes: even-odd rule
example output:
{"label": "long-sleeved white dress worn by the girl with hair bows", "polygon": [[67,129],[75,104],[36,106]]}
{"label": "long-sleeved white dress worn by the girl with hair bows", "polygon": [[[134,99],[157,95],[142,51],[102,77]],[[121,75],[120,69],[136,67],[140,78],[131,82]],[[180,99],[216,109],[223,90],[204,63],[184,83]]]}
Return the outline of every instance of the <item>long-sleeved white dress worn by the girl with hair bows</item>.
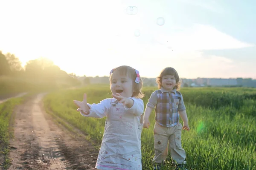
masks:
{"label": "long-sleeved white dress worn by the girl with hair bows", "polygon": [[104,99],[98,104],[87,104],[89,115],[103,118],[105,130],[96,163],[100,170],[142,170],[141,132],[144,104],[142,99],[131,98],[134,105],[124,107],[115,98]]}

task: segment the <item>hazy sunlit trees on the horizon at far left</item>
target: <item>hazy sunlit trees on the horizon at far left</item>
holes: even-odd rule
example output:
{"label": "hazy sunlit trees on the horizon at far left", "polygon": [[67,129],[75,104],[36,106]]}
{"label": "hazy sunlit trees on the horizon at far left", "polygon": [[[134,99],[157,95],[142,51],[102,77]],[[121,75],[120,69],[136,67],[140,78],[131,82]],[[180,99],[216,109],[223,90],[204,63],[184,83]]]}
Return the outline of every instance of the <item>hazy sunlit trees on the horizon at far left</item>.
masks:
{"label": "hazy sunlit trees on the horizon at far left", "polygon": [[21,79],[30,79],[34,82],[51,83],[51,85],[60,82],[66,85],[78,85],[78,79],[73,78],[65,71],[47,58],[39,57],[38,59],[29,60],[24,67],[14,54],[3,54],[0,51],[0,77],[16,77]]}

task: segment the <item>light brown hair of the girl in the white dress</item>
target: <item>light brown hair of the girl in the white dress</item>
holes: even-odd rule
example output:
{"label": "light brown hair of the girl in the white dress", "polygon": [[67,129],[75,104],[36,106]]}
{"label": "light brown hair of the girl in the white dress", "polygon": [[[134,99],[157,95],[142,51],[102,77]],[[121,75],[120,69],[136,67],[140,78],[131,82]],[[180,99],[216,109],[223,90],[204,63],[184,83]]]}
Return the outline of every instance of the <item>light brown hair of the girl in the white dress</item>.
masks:
{"label": "light brown hair of the girl in the white dress", "polygon": [[[128,77],[130,77],[133,80],[133,90],[134,90],[134,92],[132,94],[132,97],[137,97],[139,99],[144,97],[144,94],[142,93],[142,84],[143,84],[142,79],[139,76],[140,77],[140,82],[139,83],[135,82],[135,79],[137,78],[137,74],[136,74],[134,68],[132,68],[130,66],[127,66],[127,65],[122,65],[122,66],[119,66],[117,68],[114,68],[113,72],[114,71],[118,71],[122,75],[127,75]],[[110,74],[109,81],[110,81],[110,85],[111,85],[112,84],[112,74]]]}

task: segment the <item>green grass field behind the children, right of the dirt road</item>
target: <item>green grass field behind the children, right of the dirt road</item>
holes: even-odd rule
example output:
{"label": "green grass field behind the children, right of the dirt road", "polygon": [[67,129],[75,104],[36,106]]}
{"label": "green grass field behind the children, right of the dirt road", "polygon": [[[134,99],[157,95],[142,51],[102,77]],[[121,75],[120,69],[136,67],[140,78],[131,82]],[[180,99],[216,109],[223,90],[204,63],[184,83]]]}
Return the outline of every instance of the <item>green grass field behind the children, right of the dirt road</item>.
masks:
{"label": "green grass field behind the children, right of the dirt road", "polygon": [[[146,105],[156,87],[144,88]],[[187,169],[254,170],[256,169],[256,89],[253,88],[182,88],[189,119],[189,132],[182,132]],[[85,118],[76,112],[73,99],[98,103],[111,97],[108,85],[58,91],[44,98],[47,112],[67,120],[89,134],[87,139],[101,143],[105,118]],[[153,168],[154,113],[151,126],[142,132],[143,170]],[[169,156],[170,160],[170,156]],[[166,169],[168,166],[166,166]],[[169,167],[169,169],[172,169]]]}

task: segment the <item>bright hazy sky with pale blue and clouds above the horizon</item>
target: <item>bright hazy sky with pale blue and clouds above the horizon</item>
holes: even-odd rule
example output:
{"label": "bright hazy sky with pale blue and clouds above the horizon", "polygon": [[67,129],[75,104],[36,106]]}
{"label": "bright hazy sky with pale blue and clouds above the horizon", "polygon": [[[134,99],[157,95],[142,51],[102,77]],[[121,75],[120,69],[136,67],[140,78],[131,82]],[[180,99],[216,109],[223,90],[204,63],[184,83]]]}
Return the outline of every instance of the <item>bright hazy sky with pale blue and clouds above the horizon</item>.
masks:
{"label": "bright hazy sky with pale blue and clouds above the horizon", "polygon": [[256,79],[254,0],[0,0],[0,51],[23,65],[109,76],[129,65],[155,78]]}

